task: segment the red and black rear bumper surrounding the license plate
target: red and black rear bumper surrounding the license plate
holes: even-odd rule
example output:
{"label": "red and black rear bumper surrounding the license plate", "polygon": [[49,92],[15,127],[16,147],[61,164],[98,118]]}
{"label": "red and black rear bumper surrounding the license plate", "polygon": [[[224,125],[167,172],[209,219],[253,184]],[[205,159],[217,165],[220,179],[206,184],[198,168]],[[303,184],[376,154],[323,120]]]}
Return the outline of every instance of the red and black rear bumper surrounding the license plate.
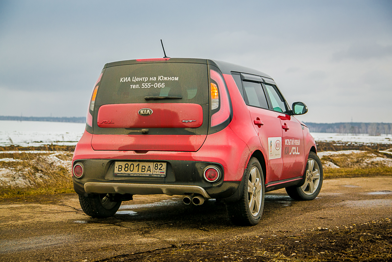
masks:
{"label": "red and black rear bumper surrounding the license plate", "polygon": [[[206,198],[227,199],[237,195],[250,151],[230,127],[209,134],[196,152],[132,150],[94,150],[92,135],[83,134],[76,145],[73,165],[83,166],[82,178],[73,177],[78,194],[202,194]],[[114,176],[116,161],[165,161],[165,178]],[[221,178],[207,182],[203,170],[215,165],[222,171]],[[103,192],[107,191],[107,192]],[[240,192],[242,193],[242,191]]]}

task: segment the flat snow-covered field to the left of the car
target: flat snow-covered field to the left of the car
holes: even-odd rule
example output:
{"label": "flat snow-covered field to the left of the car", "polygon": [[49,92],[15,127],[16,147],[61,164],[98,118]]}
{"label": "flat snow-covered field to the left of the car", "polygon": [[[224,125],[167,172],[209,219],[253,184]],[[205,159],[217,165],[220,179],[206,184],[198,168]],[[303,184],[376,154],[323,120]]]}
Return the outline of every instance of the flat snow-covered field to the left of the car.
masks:
{"label": "flat snow-covered field to the left of the car", "polygon": [[0,121],[0,146],[76,145],[86,124],[43,121]]}

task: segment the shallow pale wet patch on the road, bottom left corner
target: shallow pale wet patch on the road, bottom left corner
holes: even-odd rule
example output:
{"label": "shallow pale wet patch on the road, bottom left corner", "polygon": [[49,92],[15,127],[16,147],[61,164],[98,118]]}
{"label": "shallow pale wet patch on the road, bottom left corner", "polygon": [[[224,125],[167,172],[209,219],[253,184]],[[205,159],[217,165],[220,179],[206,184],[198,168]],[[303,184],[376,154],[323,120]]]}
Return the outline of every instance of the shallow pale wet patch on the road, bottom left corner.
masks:
{"label": "shallow pale wet patch on the road, bottom left corner", "polygon": [[0,241],[0,253],[11,253],[15,251],[47,248],[50,246],[58,246],[63,243],[70,242],[72,235],[58,234],[39,237],[20,238],[17,240]]}

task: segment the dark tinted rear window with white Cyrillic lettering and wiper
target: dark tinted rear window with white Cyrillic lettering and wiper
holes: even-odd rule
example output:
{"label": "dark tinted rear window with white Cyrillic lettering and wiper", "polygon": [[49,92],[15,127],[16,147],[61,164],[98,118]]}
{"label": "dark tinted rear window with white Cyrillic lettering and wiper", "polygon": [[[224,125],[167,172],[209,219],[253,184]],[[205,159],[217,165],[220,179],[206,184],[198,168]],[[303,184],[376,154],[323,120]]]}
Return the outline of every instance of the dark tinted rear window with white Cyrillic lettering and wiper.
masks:
{"label": "dark tinted rear window with white Cyrillic lettering and wiper", "polygon": [[[163,87],[162,87],[163,86]],[[96,105],[126,103],[209,104],[206,64],[151,63],[106,68]],[[145,100],[146,96],[182,99]]]}

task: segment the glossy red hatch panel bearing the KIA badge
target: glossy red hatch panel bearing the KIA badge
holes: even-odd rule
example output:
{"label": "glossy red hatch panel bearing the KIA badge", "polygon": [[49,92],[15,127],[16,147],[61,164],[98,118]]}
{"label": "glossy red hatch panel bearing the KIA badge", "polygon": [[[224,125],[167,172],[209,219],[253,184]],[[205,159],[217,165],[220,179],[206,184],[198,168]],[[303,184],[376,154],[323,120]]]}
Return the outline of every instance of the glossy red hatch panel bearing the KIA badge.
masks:
{"label": "glossy red hatch panel bearing the KIA badge", "polygon": [[[154,114],[140,115],[140,108]],[[203,109],[189,103],[104,104],[97,122],[102,128],[192,128],[203,124]]]}

